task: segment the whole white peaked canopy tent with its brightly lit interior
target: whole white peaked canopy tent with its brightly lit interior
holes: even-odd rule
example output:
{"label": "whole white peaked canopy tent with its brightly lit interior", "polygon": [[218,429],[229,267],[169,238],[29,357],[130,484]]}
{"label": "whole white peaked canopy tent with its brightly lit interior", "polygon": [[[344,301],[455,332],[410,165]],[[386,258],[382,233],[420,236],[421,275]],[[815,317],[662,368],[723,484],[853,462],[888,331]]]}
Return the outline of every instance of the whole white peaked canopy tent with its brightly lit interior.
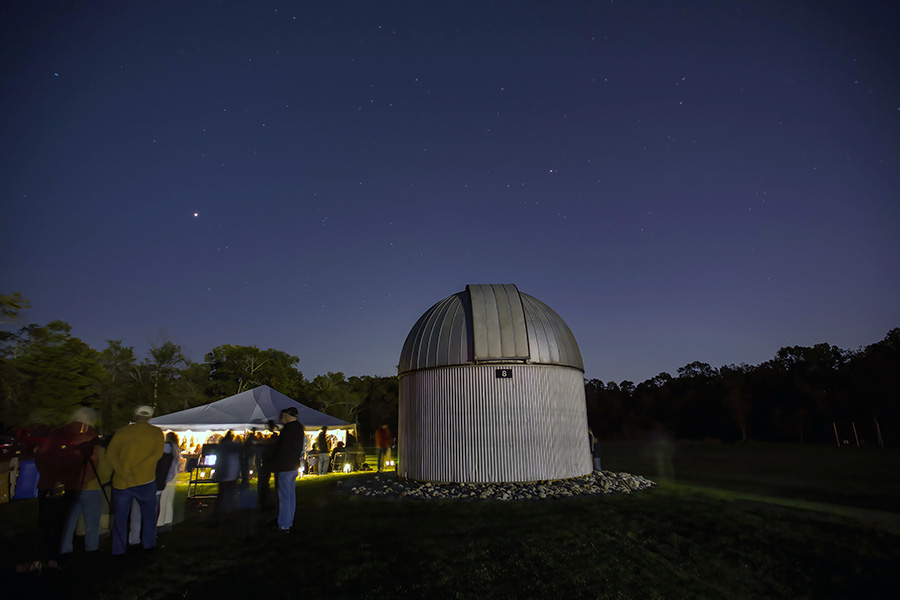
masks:
{"label": "whole white peaked canopy tent with its brightly lit interior", "polygon": [[[150,423],[164,432],[174,431],[178,435],[183,453],[188,457],[188,498],[208,498],[215,496],[217,442],[222,436],[231,430],[244,438],[254,432],[268,437],[269,421],[278,425],[281,411],[289,407],[297,409],[297,420],[303,424],[311,456],[315,456],[313,444],[323,426],[328,428],[331,447],[338,442],[347,446],[348,436],[356,438],[356,425],[300,404],[267,385],[203,406],[154,417]],[[365,462],[365,454],[348,448],[338,453],[335,462],[340,464],[341,470],[347,470],[348,466],[353,470]]]}

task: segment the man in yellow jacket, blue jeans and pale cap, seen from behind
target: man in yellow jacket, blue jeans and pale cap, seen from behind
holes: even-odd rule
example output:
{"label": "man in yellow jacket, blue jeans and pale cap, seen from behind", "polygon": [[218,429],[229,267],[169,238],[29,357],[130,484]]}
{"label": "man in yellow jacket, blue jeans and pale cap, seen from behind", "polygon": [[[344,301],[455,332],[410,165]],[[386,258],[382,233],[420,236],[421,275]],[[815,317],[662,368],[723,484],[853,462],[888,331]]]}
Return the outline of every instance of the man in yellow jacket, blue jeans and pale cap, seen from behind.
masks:
{"label": "man in yellow jacket, blue jeans and pale cap, seen from behind", "polygon": [[116,432],[106,450],[113,469],[113,549],[125,554],[126,528],[131,501],[141,508],[141,545],[156,548],[156,463],[163,453],[163,433],[147,421],[153,409],[140,406],[134,423]]}

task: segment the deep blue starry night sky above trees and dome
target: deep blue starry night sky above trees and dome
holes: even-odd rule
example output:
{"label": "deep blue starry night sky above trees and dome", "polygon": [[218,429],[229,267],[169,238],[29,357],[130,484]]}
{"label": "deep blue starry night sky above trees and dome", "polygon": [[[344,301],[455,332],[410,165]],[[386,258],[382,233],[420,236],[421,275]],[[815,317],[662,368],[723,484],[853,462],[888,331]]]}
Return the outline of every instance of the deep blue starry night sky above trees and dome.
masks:
{"label": "deep blue starry night sky above trees and dome", "polygon": [[900,326],[896,2],[5,2],[0,293],[392,375],[467,283],[640,382]]}

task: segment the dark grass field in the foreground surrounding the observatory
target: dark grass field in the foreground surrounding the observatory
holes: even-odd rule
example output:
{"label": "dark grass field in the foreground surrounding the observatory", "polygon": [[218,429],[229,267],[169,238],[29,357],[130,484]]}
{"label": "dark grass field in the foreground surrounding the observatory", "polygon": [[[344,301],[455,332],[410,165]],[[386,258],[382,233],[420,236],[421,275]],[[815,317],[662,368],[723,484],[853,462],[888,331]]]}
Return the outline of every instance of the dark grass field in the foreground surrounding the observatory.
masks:
{"label": "dark grass field in the foreground surrounding the observatory", "polygon": [[[900,592],[900,453],[773,444],[604,445],[604,468],[670,481],[632,495],[409,502],[298,484],[296,531],[271,513],[185,508],[165,547],[76,550],[19,575],[36,503],[0,505],[9,598],[880,598]],[[392,474],[382,477],[392,477]],[[248,527],[256,534],[245,537]],[[77,545],[76,545],[77,548]]]}

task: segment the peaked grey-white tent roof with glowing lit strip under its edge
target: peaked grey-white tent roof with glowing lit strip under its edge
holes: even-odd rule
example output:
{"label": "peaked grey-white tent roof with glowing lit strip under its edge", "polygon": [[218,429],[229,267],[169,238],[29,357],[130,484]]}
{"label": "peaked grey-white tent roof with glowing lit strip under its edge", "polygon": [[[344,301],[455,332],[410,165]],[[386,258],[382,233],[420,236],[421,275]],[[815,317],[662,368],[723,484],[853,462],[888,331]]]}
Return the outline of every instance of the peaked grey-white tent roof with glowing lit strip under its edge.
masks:
{"label": "peaked grey-white tent roof with glowing lit strip under its edge", "polygon": [[279,423],[281,411],[293,406],[307,436],[314,436],[323,426],[336,441],[347,442],[347,432],[355,433],[356,426],[318,410],[300,404],[267,385],[261,385],[203,406],[196,406],[150,419],[163,431],[178,433],[183,444],[192,448],[206,443],[214,435],[224,435],[229,429],[244,435],[256,429],[264,432],[269,420]]}

